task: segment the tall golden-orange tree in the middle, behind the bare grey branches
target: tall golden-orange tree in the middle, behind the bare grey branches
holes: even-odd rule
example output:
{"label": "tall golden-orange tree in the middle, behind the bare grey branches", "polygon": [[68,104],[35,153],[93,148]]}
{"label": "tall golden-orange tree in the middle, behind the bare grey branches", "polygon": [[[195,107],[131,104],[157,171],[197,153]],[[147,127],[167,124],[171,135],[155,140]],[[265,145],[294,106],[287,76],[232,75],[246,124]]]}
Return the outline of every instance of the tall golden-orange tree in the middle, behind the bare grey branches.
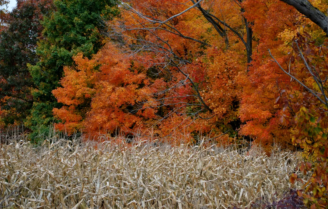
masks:
{"label": "tall golden-orange tree in the middle, behind the bare grey branches", "polygon": [[[158,93],[154,94],[158,106],[170,106],[173,110],[170,113],[193,117],[193,122],[209,120],[207,123],[221,132],[235,131],[240,126],[237,109],[242,91],[236,76],[247,73],[253,53],[254,21],[244,15],[245,4],[243,1],[180,4],[147,1],[141,5],[121,2],[126,10],[122,14],[126,15],[122,15],[123,20],[109,24],[109,35],[131,48],[130,53],[153,53],[147,65],[155,66],[159,72],[169,71],[173,78],[178,78],[168,82],[167,90],[163,91],[166,95],[157,98]],[[142,62],[145,63],[144,59]],[[175,86],[188,91],[176,92]],[[187,97],[188,102],[183,101]],[[183,105],[176,106],[181,102]],[[207,127],[213,129],[211,125]]]}

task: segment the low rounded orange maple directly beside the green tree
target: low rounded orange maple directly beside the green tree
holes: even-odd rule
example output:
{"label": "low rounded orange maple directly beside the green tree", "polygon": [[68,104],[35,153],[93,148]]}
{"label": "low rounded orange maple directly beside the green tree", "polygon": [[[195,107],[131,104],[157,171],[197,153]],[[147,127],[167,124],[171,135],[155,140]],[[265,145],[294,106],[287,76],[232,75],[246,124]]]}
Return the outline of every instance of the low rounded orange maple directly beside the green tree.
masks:
{"label": "low rounded orange maple directly beside the green tree", "polygon": [[138,101],[148,100],[150,79],[113,45],[107,44],[91,60],[79,54],[74,61],[76,67],[64,68],[63,87],[53,90],[58,102],[65,105],[53,109],[63,122],[57,124],[59,129],[93,135],[117,129],[133,131],[155,117],[153,108],[134,108]]}

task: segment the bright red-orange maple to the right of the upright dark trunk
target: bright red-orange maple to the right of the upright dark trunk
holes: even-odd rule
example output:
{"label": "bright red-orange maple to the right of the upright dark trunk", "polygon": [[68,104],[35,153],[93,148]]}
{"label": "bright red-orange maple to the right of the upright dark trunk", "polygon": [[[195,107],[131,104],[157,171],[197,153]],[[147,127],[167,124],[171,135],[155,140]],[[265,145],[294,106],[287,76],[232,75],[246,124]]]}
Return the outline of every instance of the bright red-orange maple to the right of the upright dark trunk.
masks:
{"label": "bright red-orange maple to the right of the upright dark trunk", "polygon": [[[314,6],[324,10],[320,2]],[[287,83],[295,82],[283,73],[276,63],[272,62],[271,53],[279,61],[284,62],[291,48],[293,37],[297,32],[308,32],[319,42],[325,33],[310,19],[304,18],[292,6],[282,2],[248,1],[245,2],[245,16],[254,21],[253,31],[258,40],[258,46],[253,53],[252,66],[247,74],[240,74],[238,80],[243,85],[240,95],[240,134],[252,135],[256,143],[269,146],[276,142],[282,146],[294,146],[291,138],[297,132],[294,125],[281,123],[281,115],[289,114],[288,106],[276,104],[277,92]],[[263,29],[266,28],[266,29]],[[291,84],[293,91],[298,86]]]}

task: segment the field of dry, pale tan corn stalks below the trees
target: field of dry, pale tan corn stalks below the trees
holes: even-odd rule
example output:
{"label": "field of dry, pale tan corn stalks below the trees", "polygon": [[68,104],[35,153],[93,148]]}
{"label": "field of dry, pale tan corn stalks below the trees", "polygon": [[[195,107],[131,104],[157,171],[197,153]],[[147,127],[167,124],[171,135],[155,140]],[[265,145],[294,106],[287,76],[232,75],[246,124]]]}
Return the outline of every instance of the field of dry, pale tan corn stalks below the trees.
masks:
{"label": "field of dry, pale tan corn stalks below the trees", "polygon": [[247,208],[289,191],[297,162],[292,152],[267,157],[255,148],[203,144],[7,143],[0,149],[0,208]]}

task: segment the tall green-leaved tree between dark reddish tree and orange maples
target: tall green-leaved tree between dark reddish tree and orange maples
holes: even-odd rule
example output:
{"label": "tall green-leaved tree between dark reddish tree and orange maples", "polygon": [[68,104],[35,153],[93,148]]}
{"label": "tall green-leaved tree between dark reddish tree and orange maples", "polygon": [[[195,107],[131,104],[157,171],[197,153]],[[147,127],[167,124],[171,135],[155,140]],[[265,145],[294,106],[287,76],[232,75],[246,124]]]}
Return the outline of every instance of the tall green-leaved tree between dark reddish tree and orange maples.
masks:
{"label": "tall green-leaved tree between dark reddish tree and orange maples", "polygon": [[[36,88],[34,103],[27,125],[34,135],[44,133],[56,120],[52,108],[60,108],[51,91],[60,86],[63,66],[74,64],[72,56],[83,52],[91,57],[103,46],[99,21],[117,14],[107,0],[56,0],[55,10],[43,21],[44,40],[40,40],[36,54],[40,61],[29,67]],[[33,136],[34,136],[33,135]]]}

